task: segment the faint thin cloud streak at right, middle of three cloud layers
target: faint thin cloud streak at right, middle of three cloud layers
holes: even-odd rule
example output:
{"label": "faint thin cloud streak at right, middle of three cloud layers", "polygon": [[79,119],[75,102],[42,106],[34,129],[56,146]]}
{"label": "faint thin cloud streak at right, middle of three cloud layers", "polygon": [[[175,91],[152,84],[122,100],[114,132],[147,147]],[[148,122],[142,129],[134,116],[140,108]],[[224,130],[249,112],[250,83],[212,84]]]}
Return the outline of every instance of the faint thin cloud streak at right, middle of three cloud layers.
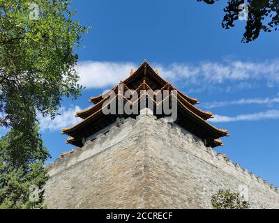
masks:
{"label": "faint thin cloud streak at right, middle of three cloud layers", "polygon": [[241,98],[239,100],[225,100],[220,102],[205,102],[202,103],[202,107],[214,108],[214,107],[227,107],[231,105],[272,105],[279,103],[279,97],[277,98]]}

